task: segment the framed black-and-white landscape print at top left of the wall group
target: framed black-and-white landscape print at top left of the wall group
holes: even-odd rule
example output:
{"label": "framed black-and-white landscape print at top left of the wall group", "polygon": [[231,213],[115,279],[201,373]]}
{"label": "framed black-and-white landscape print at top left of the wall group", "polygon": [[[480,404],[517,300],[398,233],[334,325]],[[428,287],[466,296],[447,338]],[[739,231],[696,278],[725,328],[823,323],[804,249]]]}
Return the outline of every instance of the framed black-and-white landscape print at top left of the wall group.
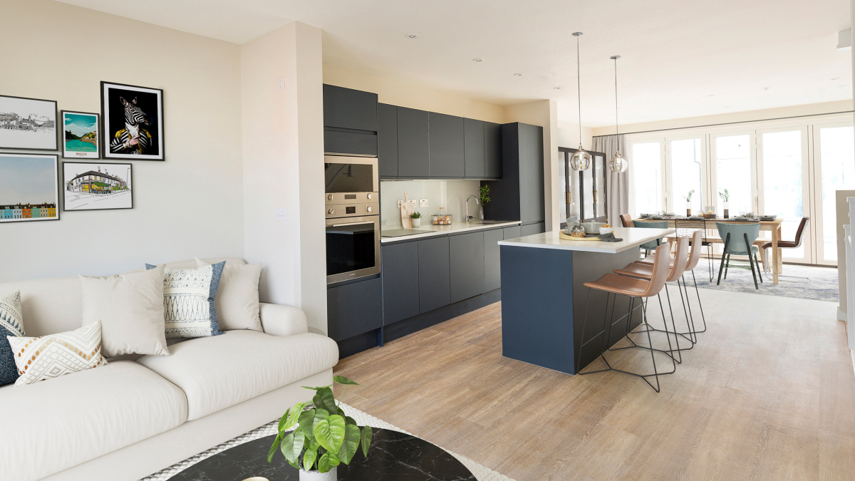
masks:
{"label": "framed black-and-white landscape print at top left of the wall group", "polygon": [[56,100],[0,95],[0,149],[56,151]]}

